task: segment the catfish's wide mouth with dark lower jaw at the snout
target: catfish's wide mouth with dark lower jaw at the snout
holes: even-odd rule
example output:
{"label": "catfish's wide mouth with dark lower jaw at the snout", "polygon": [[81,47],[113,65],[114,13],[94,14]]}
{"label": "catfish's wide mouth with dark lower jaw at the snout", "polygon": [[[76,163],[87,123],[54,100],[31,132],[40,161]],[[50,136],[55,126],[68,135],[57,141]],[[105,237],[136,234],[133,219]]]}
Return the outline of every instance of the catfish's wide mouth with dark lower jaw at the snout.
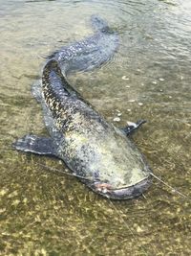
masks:
{"label": "catfish's wide mouth with dark lower jaw at the snout", "polygon": [[98,188],[96,192],[98,194],[111,199],[130,199],[130,198],[137,198],[138,196],[142,195],[144,191],[146,191],[149,186],[151,185],[151,176],[144,178],[140,182],[135,185],[123,187],[120,189],[113,189],[109,186],[102,186]]}

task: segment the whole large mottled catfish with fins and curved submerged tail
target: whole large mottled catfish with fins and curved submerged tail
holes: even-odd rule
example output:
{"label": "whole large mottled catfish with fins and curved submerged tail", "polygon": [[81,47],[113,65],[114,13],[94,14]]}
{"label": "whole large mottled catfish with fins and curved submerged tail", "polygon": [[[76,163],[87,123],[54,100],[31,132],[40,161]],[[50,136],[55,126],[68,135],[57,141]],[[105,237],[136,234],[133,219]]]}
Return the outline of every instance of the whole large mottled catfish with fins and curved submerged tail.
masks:
{"label": "whole large mottled catfish with fins and curved submerged tail", "polygon": [[95,35],[55,52],[43,69],[42,82],[33,88],[50,137],[26,135],[13,147],[62,159],[74,175],[102,196],[134,198],[148,188],[151,171],[127,135],[143,122],[115,128],[66,79],[74,70],[99,66],[117,50],[117,34],[96,16],[92,22]]}

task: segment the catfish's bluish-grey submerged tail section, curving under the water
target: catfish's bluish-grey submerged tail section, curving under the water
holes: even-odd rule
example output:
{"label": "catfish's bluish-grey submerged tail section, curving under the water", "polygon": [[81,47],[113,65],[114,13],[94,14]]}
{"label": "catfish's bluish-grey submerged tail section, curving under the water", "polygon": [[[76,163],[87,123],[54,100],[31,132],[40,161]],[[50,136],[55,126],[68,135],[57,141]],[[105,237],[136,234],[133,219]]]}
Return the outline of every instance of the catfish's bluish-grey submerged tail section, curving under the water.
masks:
{"label": "catfish's bluish-grey submerged tail section, curving under the water", "polygon": [[107,22],[96,15],[91,17],[96,33],[56,51],[51,58],[56,59],[63,73],[89,71],[113,57],[118,48],[118,35]]}

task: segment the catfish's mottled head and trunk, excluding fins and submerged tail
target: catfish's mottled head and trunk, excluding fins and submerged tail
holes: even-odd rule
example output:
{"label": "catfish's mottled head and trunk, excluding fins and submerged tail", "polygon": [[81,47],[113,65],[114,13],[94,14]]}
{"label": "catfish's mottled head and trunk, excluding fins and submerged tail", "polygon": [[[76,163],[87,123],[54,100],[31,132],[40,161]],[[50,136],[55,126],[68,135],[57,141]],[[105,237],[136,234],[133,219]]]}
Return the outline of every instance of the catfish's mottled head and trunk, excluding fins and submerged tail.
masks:
{"label": "catfish's mottled head and trunk, excluding fins and submerged tail", "polygon": [[44,67],[42,91],[53,115],[49,132],[59,158],[108,198],[138,196],[149,185],[150,170],[143,156],[120,129],[70,90],[58,62],[50,60]]}

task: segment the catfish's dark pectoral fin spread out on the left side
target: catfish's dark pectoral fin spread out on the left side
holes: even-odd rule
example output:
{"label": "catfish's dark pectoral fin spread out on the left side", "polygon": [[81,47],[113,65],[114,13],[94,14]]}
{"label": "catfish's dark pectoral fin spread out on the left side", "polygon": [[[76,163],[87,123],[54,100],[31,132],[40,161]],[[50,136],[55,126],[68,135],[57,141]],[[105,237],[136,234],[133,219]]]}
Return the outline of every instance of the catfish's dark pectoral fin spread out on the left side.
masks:
{"label": "catfish's dark pectoral fin spread out on the left side", "polygon": [[44,155],[57,156],[53,140],[46,137],[37,137],[36,135],[25,135],[12,144],[17,151],[32,152]]}

